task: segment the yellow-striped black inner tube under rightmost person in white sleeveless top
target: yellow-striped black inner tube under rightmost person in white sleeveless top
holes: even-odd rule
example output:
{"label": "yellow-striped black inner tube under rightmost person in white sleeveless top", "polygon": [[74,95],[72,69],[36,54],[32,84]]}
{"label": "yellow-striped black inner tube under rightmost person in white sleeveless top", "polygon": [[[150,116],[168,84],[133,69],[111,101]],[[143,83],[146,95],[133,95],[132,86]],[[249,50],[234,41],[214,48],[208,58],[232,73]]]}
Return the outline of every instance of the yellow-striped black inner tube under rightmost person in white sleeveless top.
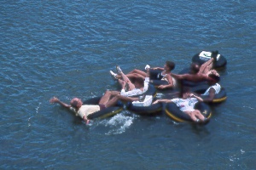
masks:
{"label": "yellow-striped black inner tube under rightmost person in white sleeveless top", "polygon": [[[207,91],[207,88],[209,88],[209,85],[201,85],[194,88],[191,88],[191,92],[195,92],[196,94],[204,94]],[[207,99],[208,95],[200,95],[201,99]],[[224,102],[224,100],[227,99],[227,94],[224,88],[221,88],[218,94],[214,95],[214,98],[212,99],[212,102],[210,103],[221,103]]]}

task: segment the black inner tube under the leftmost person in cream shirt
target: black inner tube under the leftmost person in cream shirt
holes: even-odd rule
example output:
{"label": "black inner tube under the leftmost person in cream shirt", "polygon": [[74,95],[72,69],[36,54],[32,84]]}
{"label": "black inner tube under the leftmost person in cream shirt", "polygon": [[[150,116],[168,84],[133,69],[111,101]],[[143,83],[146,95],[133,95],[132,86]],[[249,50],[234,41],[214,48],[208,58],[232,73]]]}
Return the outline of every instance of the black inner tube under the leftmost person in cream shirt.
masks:
{"label": "black inner tube under the leftmost person in cream shirt", "polygon": [[[92,99],[87,99],[83,102],[84,105],[98,105],[99,101],[102,97],[95,97]],[[96,118],[106,118],[109,116],[114,116],[116,114],[118,114],[120,111],[123,111],[123,105],[118,102],[117,105],[115,105],[114,107],[108,107],[102,111],[96,111],[93,114],[90,114],[88,117],[88,119],[96,119]]]}

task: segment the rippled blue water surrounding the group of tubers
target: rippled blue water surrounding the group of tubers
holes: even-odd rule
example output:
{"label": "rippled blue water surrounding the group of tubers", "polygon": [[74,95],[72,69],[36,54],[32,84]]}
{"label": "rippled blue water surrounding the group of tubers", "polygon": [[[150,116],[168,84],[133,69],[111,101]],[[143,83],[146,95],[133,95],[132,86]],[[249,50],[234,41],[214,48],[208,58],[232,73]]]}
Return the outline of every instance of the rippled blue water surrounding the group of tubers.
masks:
{"label": "rippled blue water surrounding the group of tubers", "polygon": [[[2,1],[1,169],[255,169],[256,3],[247,1]],[[117,85],[109,76],[174,72],[201,50],[228,60],[228,99],[207,126],[129,111],[86,126],[59,105]]]}

